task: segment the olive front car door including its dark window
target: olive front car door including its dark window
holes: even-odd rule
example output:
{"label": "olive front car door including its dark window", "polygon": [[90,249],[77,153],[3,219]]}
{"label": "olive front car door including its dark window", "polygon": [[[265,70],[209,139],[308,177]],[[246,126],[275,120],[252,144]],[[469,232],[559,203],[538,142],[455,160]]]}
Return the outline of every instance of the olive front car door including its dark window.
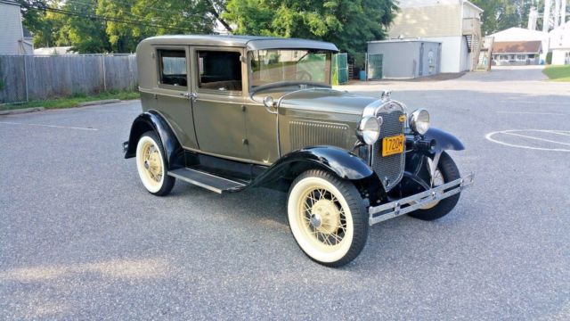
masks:
{"label": "olive front car door including its dark window", "polygon": [[240,48],[192,47],[193,111],[201,152],[248,161]]}

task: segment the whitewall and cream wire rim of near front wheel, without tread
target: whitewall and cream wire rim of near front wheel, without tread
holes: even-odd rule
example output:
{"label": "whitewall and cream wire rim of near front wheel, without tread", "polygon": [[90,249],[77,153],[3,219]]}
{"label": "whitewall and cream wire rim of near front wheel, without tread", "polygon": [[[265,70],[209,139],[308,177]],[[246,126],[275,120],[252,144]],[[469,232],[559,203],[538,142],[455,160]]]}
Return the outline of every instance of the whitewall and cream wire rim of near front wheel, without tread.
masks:
{"label": "whitewall and cream wire rim of near front wheel, without tread", "polygon": [[289,195],[289,224],[297,243],[323,262],[342,259],[350,249],[352,215],[338,189],[320,177],[307,177]]}

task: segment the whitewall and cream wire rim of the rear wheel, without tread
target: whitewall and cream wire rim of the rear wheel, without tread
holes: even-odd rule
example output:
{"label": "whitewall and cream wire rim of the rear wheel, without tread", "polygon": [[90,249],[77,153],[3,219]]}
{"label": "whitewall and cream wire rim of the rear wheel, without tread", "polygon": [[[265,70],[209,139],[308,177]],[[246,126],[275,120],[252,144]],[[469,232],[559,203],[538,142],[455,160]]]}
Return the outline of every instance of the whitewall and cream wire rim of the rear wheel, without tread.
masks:
{"label": "whitewall and cream wire rim of the rear wheel, without tread", "polygon": [[164,181],[164,164],[158,144],[143,136],[136,147],[136,160],[142,185],[151,193],[159,191]]}

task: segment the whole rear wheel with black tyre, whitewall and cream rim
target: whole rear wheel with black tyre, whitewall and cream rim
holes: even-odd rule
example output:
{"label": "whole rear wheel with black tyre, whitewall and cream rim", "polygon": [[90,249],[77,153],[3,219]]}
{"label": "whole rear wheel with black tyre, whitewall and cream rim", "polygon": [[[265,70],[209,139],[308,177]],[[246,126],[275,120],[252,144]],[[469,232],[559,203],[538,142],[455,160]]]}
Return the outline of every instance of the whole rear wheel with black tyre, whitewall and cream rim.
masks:
{"label": "whole rear wheel with black tyre, whitewall and cream rim", "polygon": [[136,168],[149,193],[165,196],[174,187],[175,177],[167,176],[166,163],[159,136],[153,131],[142,134],[136,145]]}

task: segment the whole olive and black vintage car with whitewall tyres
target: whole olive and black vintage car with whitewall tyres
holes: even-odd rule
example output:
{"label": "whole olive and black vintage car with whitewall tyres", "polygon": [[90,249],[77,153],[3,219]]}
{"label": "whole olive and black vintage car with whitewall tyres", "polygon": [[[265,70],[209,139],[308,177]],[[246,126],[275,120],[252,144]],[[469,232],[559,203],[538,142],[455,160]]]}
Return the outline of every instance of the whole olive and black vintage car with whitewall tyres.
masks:
{"label": "whole olive and black vintage car with whitewall tyres", "polygon": [[473,175],[424,109],[331,87],[330,43],[275,37],[164,36],[137,47],[142,114],[124,143],[142,185],[175,179],[216,193],[287,192],[289,226],[325,266],[356,258],[369,226],[449,213]]}

